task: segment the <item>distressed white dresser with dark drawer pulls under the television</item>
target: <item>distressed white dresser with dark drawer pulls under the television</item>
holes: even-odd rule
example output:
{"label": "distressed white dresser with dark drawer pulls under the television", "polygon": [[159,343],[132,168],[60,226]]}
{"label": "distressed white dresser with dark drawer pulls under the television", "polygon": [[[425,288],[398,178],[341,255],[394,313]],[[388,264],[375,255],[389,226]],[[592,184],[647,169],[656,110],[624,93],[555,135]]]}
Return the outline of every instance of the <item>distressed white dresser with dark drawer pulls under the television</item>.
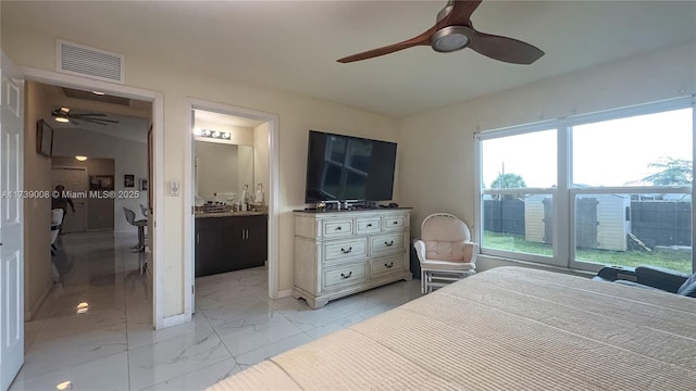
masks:
{"label": "distressed white dresser with dark drawer pulls under the television", "polygon": [[295,288],[312,308],[410,280],[410,209],[295,212]]}

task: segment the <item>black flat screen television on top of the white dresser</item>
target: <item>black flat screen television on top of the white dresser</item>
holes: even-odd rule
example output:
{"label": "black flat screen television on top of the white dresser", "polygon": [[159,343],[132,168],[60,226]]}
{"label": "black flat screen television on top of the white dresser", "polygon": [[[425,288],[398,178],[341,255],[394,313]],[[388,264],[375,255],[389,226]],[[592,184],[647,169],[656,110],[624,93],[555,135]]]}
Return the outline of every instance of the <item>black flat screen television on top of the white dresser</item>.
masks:
{"label": "black flat screen television on top of the white dresser", "polygon": [[310,130],[304,202],[388,201],[396,143]]}

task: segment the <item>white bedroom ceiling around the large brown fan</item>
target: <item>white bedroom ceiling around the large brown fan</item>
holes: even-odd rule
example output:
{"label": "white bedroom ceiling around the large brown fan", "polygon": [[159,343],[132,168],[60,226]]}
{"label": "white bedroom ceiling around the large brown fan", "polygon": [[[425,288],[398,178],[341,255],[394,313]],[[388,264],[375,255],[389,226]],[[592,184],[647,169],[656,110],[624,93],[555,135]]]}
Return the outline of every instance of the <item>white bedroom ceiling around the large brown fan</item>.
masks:
{"label": "white bedroom ceiling around the large brown fan", "polygon": [[[474,26],[546,52],[513,65],[418,47],[336,59],[411,38],[446,1],[2,1],[2,23],[173,67],[395,117],[600,63],[696,42],[696,1],[495,1]],[[20,25],[21,24],[21,25]],[[4,28],[3,28],[4,29]],[[695,43],[696,45],[696,43]]]}

